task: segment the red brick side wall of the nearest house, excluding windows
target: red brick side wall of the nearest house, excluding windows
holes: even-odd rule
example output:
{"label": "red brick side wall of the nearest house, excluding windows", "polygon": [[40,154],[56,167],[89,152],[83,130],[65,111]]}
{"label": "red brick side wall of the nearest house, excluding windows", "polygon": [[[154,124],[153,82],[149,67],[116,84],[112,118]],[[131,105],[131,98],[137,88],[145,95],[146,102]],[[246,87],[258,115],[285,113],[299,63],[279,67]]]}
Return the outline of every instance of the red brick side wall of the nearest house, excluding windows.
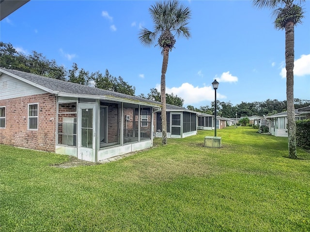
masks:
{"label": "red brick side wall of the nearest house, excluding windows", "polygon": [[[38,103],[38,130],[28,130],[28,104]],[[5,129],[0,129],[0,144],[44,151],[55,151],[56,97],[46,93],[1,100],[5,106]]]}

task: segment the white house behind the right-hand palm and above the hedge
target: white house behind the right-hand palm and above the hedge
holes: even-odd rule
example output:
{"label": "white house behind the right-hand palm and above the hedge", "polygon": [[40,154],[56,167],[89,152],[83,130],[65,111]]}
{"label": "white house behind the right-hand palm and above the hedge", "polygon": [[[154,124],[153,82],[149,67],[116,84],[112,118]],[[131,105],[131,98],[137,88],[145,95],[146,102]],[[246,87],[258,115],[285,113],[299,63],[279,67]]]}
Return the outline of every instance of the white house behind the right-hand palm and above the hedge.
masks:
{"label": "white house behind the right-hand palm and above the hedge", "polygon": [[[287,112],[266,116],[270,120],[269,131],[274,136],[288,137],[287,133]],[[310,106],[295,110],[295,120],[310,118]]]}

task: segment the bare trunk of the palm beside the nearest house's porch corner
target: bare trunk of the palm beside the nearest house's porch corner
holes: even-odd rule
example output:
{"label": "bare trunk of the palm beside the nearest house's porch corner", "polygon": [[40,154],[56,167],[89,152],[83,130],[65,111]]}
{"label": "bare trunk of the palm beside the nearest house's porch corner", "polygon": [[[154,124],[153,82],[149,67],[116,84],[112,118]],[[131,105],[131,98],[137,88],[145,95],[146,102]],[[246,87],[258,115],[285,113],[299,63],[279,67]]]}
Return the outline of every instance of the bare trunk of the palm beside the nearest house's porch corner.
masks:
{"label": "bare trunk of the palm beside the nearest house's porch corner", "polygon": [[166,115],[166,72],[168,67],[169,47],[164,47],[163,64],[161,67],[160,99],[161,99],[161,127],[162,145],[167,145],[167,115]]}

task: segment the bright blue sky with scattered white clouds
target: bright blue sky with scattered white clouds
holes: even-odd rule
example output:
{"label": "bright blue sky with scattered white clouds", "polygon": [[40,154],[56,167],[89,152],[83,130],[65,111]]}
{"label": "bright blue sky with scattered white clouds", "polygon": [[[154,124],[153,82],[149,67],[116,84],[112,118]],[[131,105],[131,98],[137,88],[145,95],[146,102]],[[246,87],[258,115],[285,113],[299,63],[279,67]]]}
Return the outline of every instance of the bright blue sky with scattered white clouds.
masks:
{"label": "bright blue sky with scattered white clouds", "polygon": [[[271,10],[249,0],[181,1],[192,12],[191,38],[177,38],[169,56],[166,92],[184,106],[211,106],[217,100],[286,100],[285,32],[274,28]],[[108,69],[136,87],[136,95],[160,86],[162,55],[145,47],[140,27],[153,29],[146,0],[31,0],[0,22],[0,39],[25,54],[75,62],[90,73]],[[295,27],[294,98],[310,100],[310,0],[303,24]]]}

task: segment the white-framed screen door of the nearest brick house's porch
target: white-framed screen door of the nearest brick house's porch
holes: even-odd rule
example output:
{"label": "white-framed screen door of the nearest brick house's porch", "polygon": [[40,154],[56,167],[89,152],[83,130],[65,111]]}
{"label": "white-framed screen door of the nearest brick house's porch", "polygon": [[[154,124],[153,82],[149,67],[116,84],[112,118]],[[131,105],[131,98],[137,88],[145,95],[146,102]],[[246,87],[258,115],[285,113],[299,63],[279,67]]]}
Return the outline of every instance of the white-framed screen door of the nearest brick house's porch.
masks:
{"label": "white-framed screen door of the nearest brick house's porch", "polygon": [[78,159],[95,162],[95,104],[78,105]]}

